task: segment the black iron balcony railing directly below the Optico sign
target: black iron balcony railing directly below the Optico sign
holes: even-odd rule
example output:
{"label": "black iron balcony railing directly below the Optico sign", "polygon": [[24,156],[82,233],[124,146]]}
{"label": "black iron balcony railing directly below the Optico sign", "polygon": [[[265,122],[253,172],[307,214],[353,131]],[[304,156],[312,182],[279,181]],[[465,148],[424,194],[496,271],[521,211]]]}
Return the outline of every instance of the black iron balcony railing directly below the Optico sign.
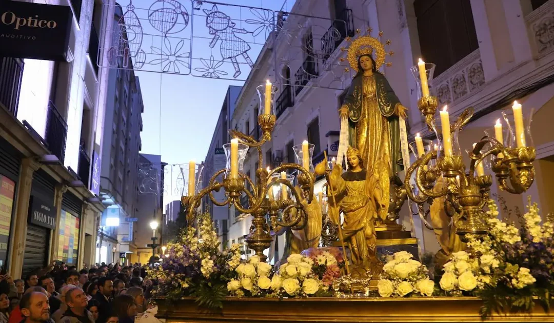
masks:
{"label": "black iron balcony railing directly below the Optico sign", "polygon": [[17,116],[24,65],[20,58],[0,57],[0,104],[13,116]]}

